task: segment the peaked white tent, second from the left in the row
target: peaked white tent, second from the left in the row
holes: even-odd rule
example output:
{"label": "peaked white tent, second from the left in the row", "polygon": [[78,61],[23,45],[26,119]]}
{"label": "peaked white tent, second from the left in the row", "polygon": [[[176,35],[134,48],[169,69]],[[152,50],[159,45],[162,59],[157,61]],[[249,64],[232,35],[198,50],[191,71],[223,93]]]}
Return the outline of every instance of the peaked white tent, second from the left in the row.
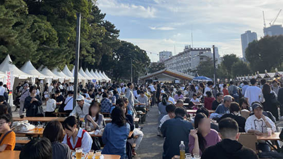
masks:
{"label": "peaked white tent, second from the left in the row", "polygon": [[36,78],[42,80],[46,78],[50,78],[48,76],[41,74],[36,68],[34,68],[30,60],[28,60],[20,69],[22,70],[22,72],[32,76],[31,78],[32,84],[36,83]]}

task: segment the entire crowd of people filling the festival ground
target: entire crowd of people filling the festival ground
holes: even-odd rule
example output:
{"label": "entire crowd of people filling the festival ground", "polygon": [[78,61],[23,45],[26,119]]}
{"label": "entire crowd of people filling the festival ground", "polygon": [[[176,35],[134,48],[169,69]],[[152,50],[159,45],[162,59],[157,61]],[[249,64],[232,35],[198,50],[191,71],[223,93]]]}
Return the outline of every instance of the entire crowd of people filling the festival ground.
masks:
{"label": "entire crowd of people filling the festival ground", "polygon": [[[202,158],[258,158],[253,150],[237,142],[239,133],[276,132],[275,123],[283,118],[283,88],[275,80],[218,84],[90,82],[79,83],[77,97],[72,82],[45,83],[43,92],[39,83],[19,83],[15,89],[21,117],[24,112],[27,117],[54,117],[58,112],[67,117],[62,124],[49,121],[42,138],[21,148],[20,158],[70,158],[70,152],[76,148],[87,153],[100,150],[102,145],[102,154],[132,158],[144,136],[134,119],[141,116],[141,122],[145,122],[149,109],[156,105],[159,111],[156,133],[157,137],[164,137],[163,158],[180,155],[181,141],[186,153]],[[5,97],[8,91],[0,82],[0,151],[15,147],[15,133],[10,128],[11,107]],[[77,101],[75,107],[73,100]],[[46,105],[45,111],[42,105]],[[188,114],[187,110],[196,110],[196,115]],[[111,122],[105,124],[105,117],[111,117]],[[91,137],[86,128],[103,129],[103,135]],[[133,135],[129,138],[131,131]],[[280,137],[283,139],[283,133]],[[30,153],[34,151],[32,148],[38,149],[37,153]],[[271,151],[264,141],[258,142],[258,149]]]}

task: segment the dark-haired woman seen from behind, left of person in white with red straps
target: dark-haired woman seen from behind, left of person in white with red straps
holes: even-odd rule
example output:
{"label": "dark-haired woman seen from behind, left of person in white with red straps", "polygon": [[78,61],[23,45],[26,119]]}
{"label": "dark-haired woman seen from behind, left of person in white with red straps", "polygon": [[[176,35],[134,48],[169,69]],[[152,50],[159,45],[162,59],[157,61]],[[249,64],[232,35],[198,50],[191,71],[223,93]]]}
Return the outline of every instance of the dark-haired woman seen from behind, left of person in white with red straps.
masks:
{"label": "dark-haired woman seen from behind, left of person in white with red straps", "polygon": [[52,159],[71,159],[70,148],[66,144],[62,144],[63,127],[58,120],[47,122],[43,131],[43,137],[50,140],[52,146]]}

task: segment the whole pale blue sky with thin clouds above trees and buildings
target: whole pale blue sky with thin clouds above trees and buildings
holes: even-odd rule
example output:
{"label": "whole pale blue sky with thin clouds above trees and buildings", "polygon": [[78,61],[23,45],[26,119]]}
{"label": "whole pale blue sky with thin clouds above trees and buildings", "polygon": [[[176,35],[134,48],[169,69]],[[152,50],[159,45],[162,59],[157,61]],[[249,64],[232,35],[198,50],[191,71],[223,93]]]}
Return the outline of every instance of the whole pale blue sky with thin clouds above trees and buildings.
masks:
{"label": "whole pale blue sky with thin clouds above trees and buildings", "polygon": [[[275,18],[283,1],[276,0],[98,0],[105,19],[120,30],[126,40],[148,51],[151,61],[158,52],[183,51],[185,45],[219,48],[220,56],[242,56],[240,35],[246,30],[263,36],[266,24]],[[275,24],[283,23],[283,12]],[[150,54],[154,52],[154,54]]]}

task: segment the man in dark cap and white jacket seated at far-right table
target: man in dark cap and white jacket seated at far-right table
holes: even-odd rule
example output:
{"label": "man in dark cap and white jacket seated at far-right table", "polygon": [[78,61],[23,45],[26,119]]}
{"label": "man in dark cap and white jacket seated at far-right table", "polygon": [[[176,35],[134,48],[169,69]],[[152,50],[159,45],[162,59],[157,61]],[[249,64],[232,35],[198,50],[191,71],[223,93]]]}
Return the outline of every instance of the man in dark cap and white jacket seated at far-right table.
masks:
{"label": "man in dark cap and white jacket seated at far-right table", "polygon": [[[271,128],[272,132],[276,131],[275,123],[262,114],[263,107],[260,102],[253,102],[252,109],[255,114],[246,119],[245,132],[262,135],[267,133],[267,128]],[[262,152],[270,151],[269,145],[265,142],[259,142],[258,149]]]}

